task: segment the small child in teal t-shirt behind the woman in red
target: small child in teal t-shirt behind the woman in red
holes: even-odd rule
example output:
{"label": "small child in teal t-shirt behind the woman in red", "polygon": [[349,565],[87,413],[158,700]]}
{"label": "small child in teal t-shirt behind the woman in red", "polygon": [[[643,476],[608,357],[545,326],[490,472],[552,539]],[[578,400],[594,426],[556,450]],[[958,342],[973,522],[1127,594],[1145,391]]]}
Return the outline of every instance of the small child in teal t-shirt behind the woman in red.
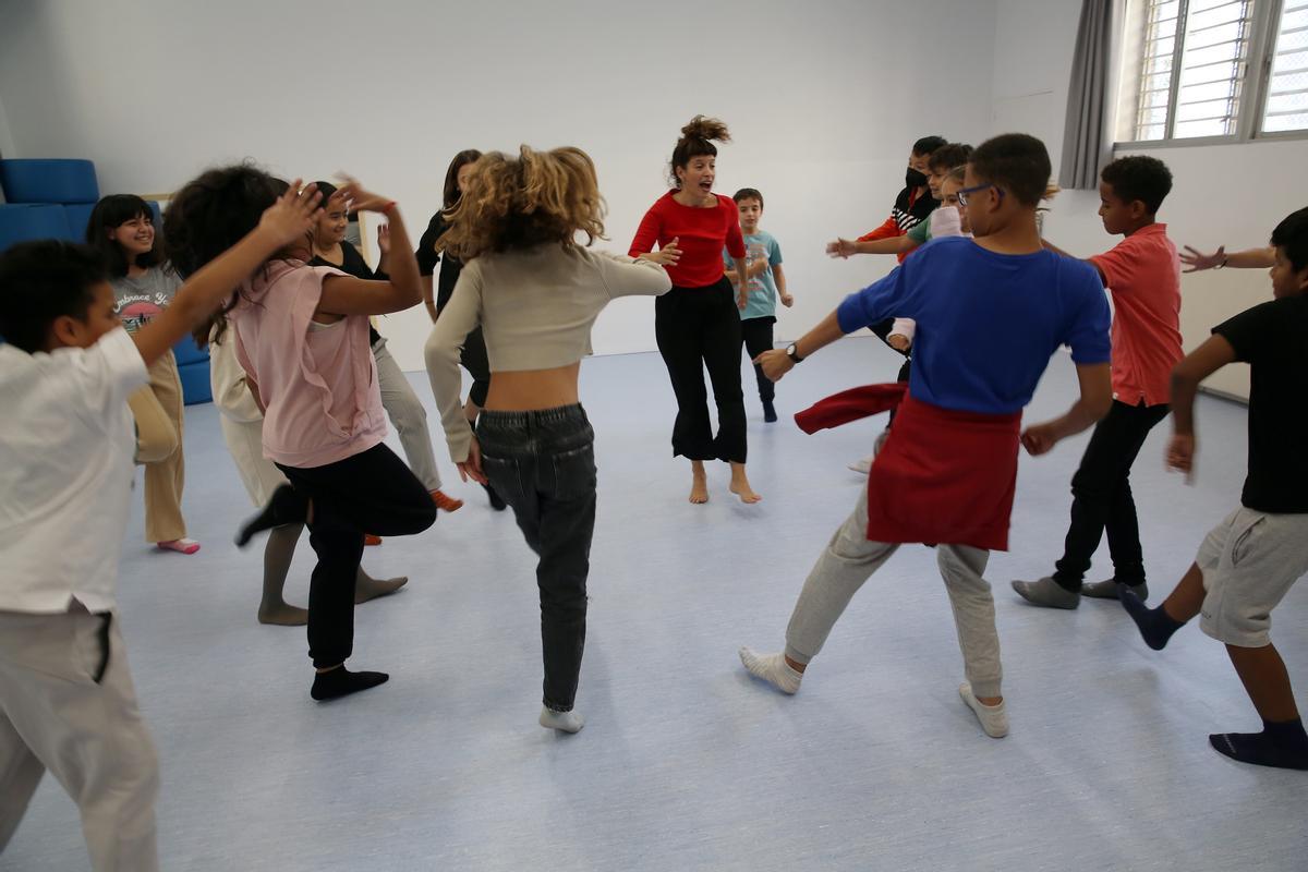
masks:
{"label": "small child in teal t-shirt behind the woman in red", "polygon": [[[772,326],[777,323],[777,297],[782,306],[791,306],[795,298],[786,293],[786,273],[781,269],[781,246],[776,238],[759,229],[763,217],[763,195],[755,188],[740,188],[732,197],[740,209],[740,233],[744,235],[746,273],[749,278],[749,294],[740,310],[740,328],[746,353],[749,360],[772,350]],[[726,251],[722,252],[727,265],[726,273],[735,286],[734,264]],[[759,399],[763,400],[763,420],[772,424],[777,420],[773,407],[776,386],[763,374],[763,367],[753,365],[759,379]]]}

